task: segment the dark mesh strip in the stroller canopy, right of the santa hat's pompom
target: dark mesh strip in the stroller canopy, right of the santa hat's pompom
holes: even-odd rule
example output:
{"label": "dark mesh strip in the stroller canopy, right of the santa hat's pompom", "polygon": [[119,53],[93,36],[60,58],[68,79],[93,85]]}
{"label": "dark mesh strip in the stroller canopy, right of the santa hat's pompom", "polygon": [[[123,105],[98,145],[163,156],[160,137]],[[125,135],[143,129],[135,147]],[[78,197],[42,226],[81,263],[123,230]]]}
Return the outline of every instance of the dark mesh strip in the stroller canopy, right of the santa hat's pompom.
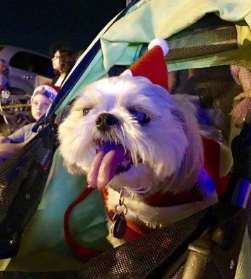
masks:
{"label": "dark mesh strip in the stroller canopy, right of the santa hat's pompom", "polygon": [[[166,61],[238,49],[235,23],[221,20],[213,13],[206,15],[191,27],[169,37],[167,43],[170,50],[166,55]],[[146,50],[148,50],[148,45],[145,44],[141,49],[140,56]]]}

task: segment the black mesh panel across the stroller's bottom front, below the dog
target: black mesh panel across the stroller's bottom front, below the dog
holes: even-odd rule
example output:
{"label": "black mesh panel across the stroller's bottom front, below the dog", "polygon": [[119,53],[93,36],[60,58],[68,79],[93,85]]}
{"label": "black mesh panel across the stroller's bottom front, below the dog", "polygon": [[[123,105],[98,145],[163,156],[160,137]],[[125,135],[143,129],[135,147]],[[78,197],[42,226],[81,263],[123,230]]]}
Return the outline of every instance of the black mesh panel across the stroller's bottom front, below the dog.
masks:
{"label": "black mesh panel across the stroller's bottom front, below the dog", "polygon": [[[208,209],[164,229],[157,229],[153,233],[145,234],[136,241],[103,252],[83,264],[83,268],[75,272],[17,273],[3,271],[0,273],[0,278],[162,278],[166,269],[175,262],[180,253],[187,249],[192,239],[198,237],[206,228],[208,225],[208,218],[204,218],[206,213],[208,213]],[[178,279],[177,276],[176,279]]]}

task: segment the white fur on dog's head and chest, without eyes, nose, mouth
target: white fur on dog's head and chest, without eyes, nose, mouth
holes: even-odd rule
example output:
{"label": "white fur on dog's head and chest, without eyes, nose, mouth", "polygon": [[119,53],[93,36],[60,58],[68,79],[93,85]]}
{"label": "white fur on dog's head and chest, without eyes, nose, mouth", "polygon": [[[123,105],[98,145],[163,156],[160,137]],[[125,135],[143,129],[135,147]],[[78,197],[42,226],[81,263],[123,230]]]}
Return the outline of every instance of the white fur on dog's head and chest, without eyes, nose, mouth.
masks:
{"label": "white fur on dog's head and chest, without eyes, nose, mouth", "polygon": [[[141,126],[130,114],[131,107],[148,114],[150,122]],[[83,116],[85,108],[91,110]],[[120,125],[105,135],[95,125],[103,112],[113,114],[120,121]],[[108,183],[109,189],[115,190],[109,190],[110,209],[118,202],[117,190],[125,188],[129,193],[128,218],[136,223],[161,227],[177,219],[173,216],[177,209],[156,213],[144,200],[155,193],[182,192],[198,180],[203,166],[203,146],[195,108],[186,96],[172,96],[162,86],[129,76],[89,84],[59,126],[59,150],[69,172],[88,173],[96,154],[94,140],[122,144],[134,162],[127,172],[115,175]]]}

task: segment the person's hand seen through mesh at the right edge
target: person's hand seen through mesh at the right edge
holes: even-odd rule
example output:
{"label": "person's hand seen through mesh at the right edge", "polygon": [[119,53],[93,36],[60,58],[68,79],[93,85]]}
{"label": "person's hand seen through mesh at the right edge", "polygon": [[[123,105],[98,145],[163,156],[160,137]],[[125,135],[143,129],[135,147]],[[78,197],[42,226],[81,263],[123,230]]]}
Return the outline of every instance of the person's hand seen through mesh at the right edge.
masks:
{"label": "person's hand seen through mesh at the right edge", "polygon": [[[245,116],[248,113],[248,110],[251,110],[251,96],[248,97],[248,91],[240,93],[238,96],[247,96],[241,100],[238,105],[234,107],[234,109],[230,112],[230,115],[237,126],[243,124],[245,120]],[[240,98],[241,99],[241,98]]]}

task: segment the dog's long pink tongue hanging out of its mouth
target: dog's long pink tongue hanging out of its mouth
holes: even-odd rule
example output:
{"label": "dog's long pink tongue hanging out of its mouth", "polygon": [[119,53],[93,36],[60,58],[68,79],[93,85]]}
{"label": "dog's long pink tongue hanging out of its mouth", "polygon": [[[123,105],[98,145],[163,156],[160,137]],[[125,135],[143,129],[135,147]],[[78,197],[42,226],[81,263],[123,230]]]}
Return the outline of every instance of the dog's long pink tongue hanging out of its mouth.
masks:
{"label": "dog's long pink tongue hanging out of its mouth", "polygon": [[101,151],[96,153],[87,174],[87,182],[92,188],[103,188],[113,179],[117,165],[124,157],[124,149],[121,145],[106,143]]}

